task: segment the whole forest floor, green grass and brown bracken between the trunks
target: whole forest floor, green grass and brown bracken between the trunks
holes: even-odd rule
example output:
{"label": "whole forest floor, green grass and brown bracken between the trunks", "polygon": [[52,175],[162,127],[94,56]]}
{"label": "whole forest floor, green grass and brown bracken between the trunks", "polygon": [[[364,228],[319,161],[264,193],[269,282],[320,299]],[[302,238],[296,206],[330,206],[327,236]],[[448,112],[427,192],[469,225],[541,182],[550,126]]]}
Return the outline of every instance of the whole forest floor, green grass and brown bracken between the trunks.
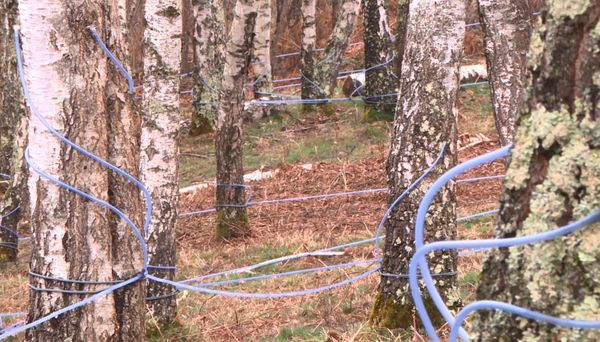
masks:
{"label": "whole forest floor, green grass and brown bracken between the trunks", "polygon": [[[318,195],[386,187],[385,159],[391,122],[365,118],[360,105],[338,106],[335,115],[303,115],[298,108],[249,123],[245,127],[244,165],[278,170],[274,177],[249,182],[253,200]],[[460,91],[459,159],[498,148],[489,88]],[[212,136],[182,142],[182,186],[211,181],[215,174]],[[200,157],[199,157],[200,156]],[[498,175],[495,162],[463,177]],[[497,207],[500,181],[458,185],[458,216]],[[214,188],[183,194],[180,212],[212,208]],[[229,242],[212,239],[215,216],[181,218],[178,223],[178,277],[213,273],[285,255],[318,250],[372,238],[386,209],[386,194],[366,194],[293,202],[248,209],[251,236]],[[494,217],[458,225],[458,236],[490,236]],[[0,312],[26,311],[29,246],[18,264],[0,266]],[[341,255],[309,257],[268,266],[253,275],[291,271],[373,258],[373,245],[347,249]],[[481,254],[459,262],[459,286],[464,302],[472,300]],[[373,267],[373,266],[371,266]],[[368,267],[278,278],[220,289],[239,292],[284,292],[324,286],[364,272]],[[239,277],[239,275],[237,275]],[[231,279],[224,278],[224,279]],[[317,295],[285,299],[237,299],[183,291],[178,296],[182,326],[156,330],[155,341],[395,341],[424,340],[419,332],[381,331],[366,324],[377,273],[358,282]]]}

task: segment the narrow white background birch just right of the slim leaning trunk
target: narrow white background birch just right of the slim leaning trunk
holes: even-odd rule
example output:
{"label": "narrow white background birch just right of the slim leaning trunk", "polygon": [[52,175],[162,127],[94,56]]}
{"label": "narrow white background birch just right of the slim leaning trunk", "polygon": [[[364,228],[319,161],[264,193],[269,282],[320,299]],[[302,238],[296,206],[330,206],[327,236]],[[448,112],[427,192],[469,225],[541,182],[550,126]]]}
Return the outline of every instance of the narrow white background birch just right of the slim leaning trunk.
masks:
{"label": "narrow white background birch just right of the slim leaning trunk", "polygon": [[[257,0],[256,24],[254,27],[254,44],[252,48],[254,71],[254,98],[270,99],[268,93],[273,92],[271,74],[271,0]],[[270,105],[254,105],[251,107],[254,119],[268,116]]]}

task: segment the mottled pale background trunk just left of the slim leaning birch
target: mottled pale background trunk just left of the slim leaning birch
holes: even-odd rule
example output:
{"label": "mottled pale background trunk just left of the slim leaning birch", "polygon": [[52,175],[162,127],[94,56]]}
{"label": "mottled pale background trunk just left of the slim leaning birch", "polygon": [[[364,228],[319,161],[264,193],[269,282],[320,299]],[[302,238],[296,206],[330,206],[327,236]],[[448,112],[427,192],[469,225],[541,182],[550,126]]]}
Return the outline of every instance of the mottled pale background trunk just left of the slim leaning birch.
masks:
{"label": "mottled pale background trunk just left of the slim leaning birch", "polygon": [[217,121],[217,104],[225,51],[225,9],[223,0],[194,0],[196,16],[194,58],[194,107],[190,133],[199,135],[212,132]]}

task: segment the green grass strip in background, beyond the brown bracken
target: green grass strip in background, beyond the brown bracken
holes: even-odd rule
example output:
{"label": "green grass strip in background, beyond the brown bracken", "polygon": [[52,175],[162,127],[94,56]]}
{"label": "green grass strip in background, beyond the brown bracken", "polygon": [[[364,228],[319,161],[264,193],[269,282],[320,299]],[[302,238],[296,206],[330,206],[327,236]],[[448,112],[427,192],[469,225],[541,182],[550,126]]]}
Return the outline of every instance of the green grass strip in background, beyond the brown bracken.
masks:
{"label": "green grass strip in background, beyond the brown bracken", "polygon": [[[320,113],[301,113],[300,106],[288,107],[244,126],[244,169],[276,168],[289,163],[311,163],[343,158],[364,159],[373,148],[389,141],[387,122],[364,122],[362,106],[336,105],[338,114],[322,122]],[[183,137],[180,185],[215,177],[213,135]]]}

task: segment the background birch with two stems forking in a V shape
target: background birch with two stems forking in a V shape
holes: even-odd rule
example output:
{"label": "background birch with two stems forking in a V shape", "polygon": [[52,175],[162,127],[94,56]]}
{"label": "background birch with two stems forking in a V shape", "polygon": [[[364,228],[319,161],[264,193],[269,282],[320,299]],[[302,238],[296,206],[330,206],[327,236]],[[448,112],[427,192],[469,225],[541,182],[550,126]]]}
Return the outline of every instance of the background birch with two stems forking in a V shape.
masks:
{"label": "background birch with two stems forking in a V shape", "polygon": [[316,59],[316,0],[302,0],[302,98],[318,99],[333,95],[342,55],[348,46],[360,7],[359,0],[341,0],[340,13],[329,36],[324,56]]}

